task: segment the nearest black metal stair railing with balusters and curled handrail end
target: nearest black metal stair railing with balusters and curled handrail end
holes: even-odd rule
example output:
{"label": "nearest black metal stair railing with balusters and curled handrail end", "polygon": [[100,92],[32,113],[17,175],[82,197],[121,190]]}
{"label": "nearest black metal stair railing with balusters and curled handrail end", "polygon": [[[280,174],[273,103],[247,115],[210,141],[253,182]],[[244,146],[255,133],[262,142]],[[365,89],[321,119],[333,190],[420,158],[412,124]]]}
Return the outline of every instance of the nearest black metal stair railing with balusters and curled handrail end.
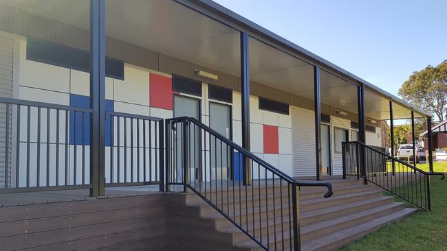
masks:
{"label": "nearest black metal stair railing with balusters and curled handrail end", "polygon": [[[222,206],[223,201],[219,202],[217,195],[215,195],[215,200],[212,200],[212,178],[210,177],[210,187],[209,187],[209,193],[206,192],[206,185],[204,186],[204,193],[202,193],[202,189],[200,186],[197,187],[197,183],[191,182],[191,180],[188,177],[188,172],[190,172],[190,167],[188,166],[188,158],[190,156],[190,153],[188,151],[189,145],[190,143],[187,143],[190,141],[190,139],[186,138],[186,132],[189,130],[186,130],[186,126],[190,126],[192,125],[193,127],[193,132],[195,132],[196,130],[196,126],[197,129],[200,131],[199,135],[201,135],[202,132],[204,132],[204,135],[206,137],[206,134],[209,134],[209,142],[211,142],[211,139],[214,139],[215,142],[216,141],[220,141],[219,144],[221,144],[221,148],[223,147],[222,144],[225,145],[225,147],[229,147],[231,154],[233,153],[232,151],[237,152],[238,154],[241,154],[241,158],[247,158],[248,161],[251,161],[252,166],[253,163],[256,163],[258,165],[258,169],[259,167],[263,168],[263,171],[265,171],[265,178],[261,178],[261,172],[259,172],[259,176],[258,178],[256,178],[257,182],[258,182],[258,186],[257,187],[252,187],[253,189],[259,189],[259,192],[257,193],[257,196],[259,196],[258,200],[259,200],[259,207],[261,208],[261,204],[263,205],[267,205],[267,202],[262,202],[263,200],[273,200],[273,205],[276,205],[274,200],[276,198],[276,196],[274,196],[273,198],[261,198],[261,180],[263,180],[262,182],[265,182],[265,187],[262,187],[262,189],[268,189],[268,183],[267,180],[270,180],[272,183],[270,183],[270,185],[272,186],[271,188],[273,189],[273,194],[275,194],[274,189],[275,189],[275,182],[276,185],[279,184],[279,188],[276,187],[276,189],[280,189],[280,193],[281,196],[279,196],[279,198],[276,198],[276,200],[281,200],[281,206],[283,205],[283,185],[285,185],[285,194],[287,195],[287,193],[289,194],[289,197],[287,197],[288,199],[285,199],[285,203],[288,203],[289,206],[289,210],[287,213],[287,209],[285,209],[286,213],[285,213],[285,219],[289,219],[289,222],[283,222],[283,211],[281,209],[281,219],[279,219],[279,224],[281,224],[281,227],[283,226],[283,224],[289,224],[290,226],[290,232],[287,232],[287,235],[290,234],[290,244],[292,245],[292,241],[293,241],[293,246],[291,246],[291,248],[293,247],[293,250],[300,250],[300,238],[299,238],[299,213],[298,213],[298,187],[326,187],[327,188],[327,192],[324,194],[325,198],[329,198],[333,193],[333,187],[332,184],[330,182],[326,182],[326,181],[298,181],[295,180],[294,178],[288,176],[287,174],[285,174],[283,171],[276,169],[276,167],[273,167],[272,165],[270,165],[269,163],[265,162],[265,160],[262,160],[261,158],[259,158],[258,156],[252,154],[252,152],[244,149],[243,147],[237,145],[236,143],[234,143],[233,141],[231,141],[230,139],[226,138],[225,136],[221,135],[219,132],[213,130],[212,128],[210,128],[207,125],[204,125],[204,123],[201,123],[200,121],[198,121],[197,119],[191,118],[191,117],[177,117],[177,118],[173,118],[173,119],[166,119],[166,150],[167,151],[171,151],[171,147],[169,147],[169,143],[171,142],[171,133],[173,131],[178,130],[177,125],[180,124],[182,125],[182,137],[180,138],[176,138],[176,140],[181,141],[182,144],[182,156],[186,156],[186,157],[181,157],[182,161],[185,161],[182,164],[182,168],[183,168],[183,181],[182,182],[167,182],[166,184],[183,184],[184,185],[184,191],[186,191],[186,188],[190,189],[190,191],[193,191],[194,193],[196,193],[200,198],[202,198],[203,200],[205,200],[210,206],[212,206],[212,208],[215,208],[216,211],[218,211],[221,215],[223,215],[223,217],[226,217],[226,219],[228,219],[230,222],[232,222],[232,224],[234,224],[237,228],[239,228],[239,230],[241,230],[242,232],[244,232],[250,239],[252,239],[255,243],[257,243],[261,248],[263,248],[264,250],[269,250],[270,246],[269,246],[269,241],[267,241],[267,243],[265,243],[262,239],[262,234],[261,235],[261,239],[259,239],[259,235],[257,235],[257,231],[254,230],[254,225],[252,227],[252,229],[250,230],[250,226],[248,226],[248,221],[243,221],[241,220],[240,216],[238,217],[237,215],[235,215],[235,202],[231,202],[233,207],[233,211],[231,211],[229,209],[228,206],[228,201],[227,201],[227,206]],[[169,128],[169,126],[171,126],[171,128]],[[168,132],[171,131],[171,132]],[[192,132],[191,132],[192,133]],[[195,135],[195,134],[194,134]],[[211,136],[213,138],[211,138]],[[201,141],[201,140],[199,140]],[[195,141],[194,145],[195,145]],[[178,146],[176,145],[175,149],[179,149],[177,148]],[[168,150],[169,149],[169,150]],[[205,151],[206,151],[206,147],[205,147]],[[169,173],[169,170],[171,168],[171,154],[166,154],[166,174]],[[177,156],[177,154],[173,154],[173,156]],[[169,158],[169,160],[168,160]],[[201,157],[199,157],[201,158]],[[212,157],[210,157],[212,158]],[[216,159],[217,160],[217,159]],[[216,161],[215,160],[215,161]],[[174,160],[173,160],[174,161]],[[176,163],[178,163],[178,160],[175,160]],[[211,161],[211,160],[210,160]],[[232,160],[231,160],[232,161]],[[244,160],[245,161],[245,160]],[[211,162],[210,162],[211,163]],[[206,164],[205,164],[206,165]],[[202,168],[200,166],[200,168]],[[212,168],[210,166],[210,175],[211,175],[211,171]],[[217,168],[217,166],[215,167]],[[206,169],[208,169],[208,167],[205,166],[205,177],[206,177]],[[216,169],[217,170],[217,169]],[[269,175],[268,175],[269,172]],[[217,171],[215,171],[215,174],[217,173]],[[264,174],[264,173],[262,173]],[[268,178],[270,177],[271,178]],[[221,178],[219,178],[220,180],[226,180],[227,185],[226,185],[226,191],[221,190],[220,193],[223,192],[228,192],[228,196],[227,198],[230,196],[230,192],[231,189],[228,188],[228,174],[227,174],[227,178],[222,178],[223,176],[221,176]],[[196,177],[197,178],[197,177]],[[166,176],[166,180],[170,179],[169,174]],[[201,180],[201,178],[199,178]],[[217,182],[219,182],[217,179],[217,174],[216,174],[216,181],[215,181],[215,193],[218,192],[217,190]],[[234,182],[234,178],[231,178],[233,180],[233,189],[232,189],[232,196],[233,196],[233,200],[235,197],[235,182]],[[254,181],[254,179],[252,179],[253,184],[256,184]],[[206,182],[206,178],[205,178],[205,182]],[[222,181],[221,181],[222,182]],[[283,183],[281,183],[283,182]],[[200,183],[200,182],[199,182]],[[225,186],[223,186],[222,188],[224,188]],[[245,187],[245,190],[247,189],[247,185],[243,184],[243,187]],[[244,190],[244,189],[243,189]],[[267,190],[265,190],[267,191]],[[252,191],[253,193],[253,191]],[[267,193],[267,192],[265,192]],[[208,195],[210,196],[208,198]],[[246,191],[246,195],[247,195],[247,191]],[[292,197],[290,197],[290,195],[292,195]],[[237,196],[237,193],[236,193]],[[253,198],[253,194],[252,194],[252,198]],[[220,196],[220,199],[223,200],[223,195]],[[239,200],[241,200],[241,183],[239,180]],[[241,203],[241,202],[239,202]],[[253,203],[253,202],[250,202]],[[246,201],[247,204],[247,201]],[[253,204],[253,206],[255,206]],[[256,204],[256,207],[258,205]],[[243,211],[247,211],[248,207],[246,207],[246,209],[244,209]],[[241,207],[239,205],[239,211],[241,210]],[[254,207],[251,210],[254,210]],[[240,212],[239,212],[240,213]],[[254,216],[253,216],[254,217]],[[259,220],[261,219],[261,216],[257,216],[259,217]],[[266,215],[266,217],[268,218],[268,215]],[[239,218],[239,219],[238,219]],[[275,219],[273,217],[273,219]],[[244,226],[245,224],[247,224],[246,226]],[[293,224],[292,224],[293,223]],[[251,224],[251,223],[250,223]],[[253,222],[254,224],[254,222]],[[274,223],[275,226],[276,223]],[[274,228],[274,226],[270,227],[270,228]],[[293,228],[292,228],[293,226]],[[269,229],[269,226],[266,226],[267,231]],[[274,230],[274,229],[272,229]],[[259,232],[258,232],[259,233]],[[284,232],[283,232],[284,233]],[[293,233],[293,236],[292,236]],[[267,237],[268,238],[268,237]],[[275,239],[275,243],[276,243],[276,237],[274,237]],[[268,240],[268,239],[267,239]],[[282,242],[282,244],[284,245],[284,242]]]}

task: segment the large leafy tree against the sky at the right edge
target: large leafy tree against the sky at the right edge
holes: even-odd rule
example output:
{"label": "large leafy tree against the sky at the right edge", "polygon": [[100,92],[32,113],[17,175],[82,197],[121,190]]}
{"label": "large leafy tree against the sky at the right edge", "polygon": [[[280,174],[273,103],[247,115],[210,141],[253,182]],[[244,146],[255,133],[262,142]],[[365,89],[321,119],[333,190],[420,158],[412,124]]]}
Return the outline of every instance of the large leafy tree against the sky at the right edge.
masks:
{"label": "large leafy tree against the sky at the right edge", "polygon": [[400,87],[399,95],[443,121],[447,113],[447,60],[414,72]]}

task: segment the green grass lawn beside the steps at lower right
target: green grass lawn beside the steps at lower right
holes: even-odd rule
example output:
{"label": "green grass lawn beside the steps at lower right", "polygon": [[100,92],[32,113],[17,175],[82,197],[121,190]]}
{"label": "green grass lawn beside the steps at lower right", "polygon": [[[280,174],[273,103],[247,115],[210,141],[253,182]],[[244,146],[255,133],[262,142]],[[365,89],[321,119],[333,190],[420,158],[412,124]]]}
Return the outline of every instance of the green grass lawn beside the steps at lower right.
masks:
{"label": "green grass lawn beside the steps at lower right", "polygon": [[[428,171],[428,164],[417,167]],[[434,163],[433,167],[434,171],[447,172],[447,163]],[[430,181],[432,211],[417,211],[341,250],[447,250],[447,179],[433,176]]]}

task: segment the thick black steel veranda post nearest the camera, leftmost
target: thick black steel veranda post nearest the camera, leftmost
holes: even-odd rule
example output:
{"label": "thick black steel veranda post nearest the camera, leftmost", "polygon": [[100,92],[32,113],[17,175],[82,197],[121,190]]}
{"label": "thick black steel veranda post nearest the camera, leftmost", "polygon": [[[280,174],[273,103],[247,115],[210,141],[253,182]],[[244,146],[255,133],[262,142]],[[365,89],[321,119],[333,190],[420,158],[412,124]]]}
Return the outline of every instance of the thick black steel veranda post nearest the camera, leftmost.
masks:
{"label": "thick black steel veranda post nearest the camera, leftmost", "polygon": [[105,0],[90,1],[90,196],[105,195]]}

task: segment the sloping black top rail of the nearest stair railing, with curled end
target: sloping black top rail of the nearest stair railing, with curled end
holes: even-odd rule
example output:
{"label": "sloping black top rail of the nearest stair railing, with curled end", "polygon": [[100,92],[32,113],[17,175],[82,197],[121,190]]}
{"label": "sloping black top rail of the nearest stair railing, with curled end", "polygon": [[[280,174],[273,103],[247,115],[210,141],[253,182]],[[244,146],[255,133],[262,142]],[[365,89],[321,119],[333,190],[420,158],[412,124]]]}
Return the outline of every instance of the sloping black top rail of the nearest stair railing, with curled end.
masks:
{"label": "sloping black top rail of the nearest stair railing, with curled end", "polygon": [[213,130],[212,128],[210,128],[210,127],[208,127],[206,125],[204,125],[203,123],[201,123],[200,121],[198,121],[195,118],[192,118],[192,117],[176,117],[176,118],[173,118],[173,119],[166,119],[166,120],[173,121],[174,123],[183,122],[183,121],[193,122],[195,125],[199,126],[199,128],[207,130],[208,132],[212,133],[213,136],[215,136],[217,139],[227,143],[228,145],[233,147],[235,150],[237,150],[237,151],[239,151],[239,152],[241,152],[243,154],[246,154],[246,156],[249,156],[250,158],[252,158],[252,160],[255,160],[257,163],[263,165],[263,167],[265,167],[265,169],[268,169],[269,171],[271,171],[276,176],[279,176],[279,178],[283,178],[287,182],[290,182],[291,184],[295,184],[298,187],[327,187],[328,191],[324,195],[325,198],[331,197],[331,195],[334,193],[332,184],[330,182],[326,182],[326,181],[298,181],[298,180],[295,180],[294,178],[292,178],[292,177],[288,176],[287,174],[285,174],[283,171],[277,169],[276,167],[273,167],[269,163],[265,162],[265,160],[263,160],[263,159],[259,158],[258,156],[252,154],[252,152],[250,152],[250,151],[244,149],[243,147],[237,145],[235,142],[231,141],[230,139],[227,139],[225,136],[221,135],[219,132]]}

